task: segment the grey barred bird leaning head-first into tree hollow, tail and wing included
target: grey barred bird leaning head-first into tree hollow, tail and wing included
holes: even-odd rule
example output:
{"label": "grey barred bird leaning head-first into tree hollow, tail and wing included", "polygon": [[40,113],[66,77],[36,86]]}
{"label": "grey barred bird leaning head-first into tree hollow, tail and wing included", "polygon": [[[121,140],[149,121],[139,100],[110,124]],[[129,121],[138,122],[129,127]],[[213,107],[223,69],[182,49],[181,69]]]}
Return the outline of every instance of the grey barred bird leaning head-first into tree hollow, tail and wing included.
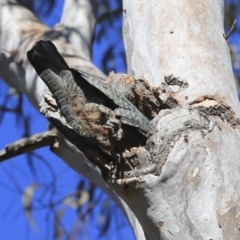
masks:
{"label": "grey barred bird leaning head-first into tree hollow, tail and wing included", "polygon": [[67,122],[71,122],[70,126],[79,124],[74,112],[76,105],[81,109],[86,103],[96,103],[114,111],[123,124],[137,128],[143,135],[149,132],[150,121],[128,99],[106,82],[69,68],[51,41],[37,42],[27,56],[56,98]]}

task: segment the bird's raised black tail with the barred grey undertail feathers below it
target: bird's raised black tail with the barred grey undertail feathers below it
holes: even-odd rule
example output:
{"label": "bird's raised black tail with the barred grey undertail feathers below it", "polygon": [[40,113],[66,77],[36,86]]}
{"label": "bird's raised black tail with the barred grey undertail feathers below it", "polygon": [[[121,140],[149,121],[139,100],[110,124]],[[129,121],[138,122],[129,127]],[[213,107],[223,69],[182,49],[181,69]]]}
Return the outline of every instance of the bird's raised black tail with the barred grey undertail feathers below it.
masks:
{"label": "bird's raised black tail with the barred grey undertail feathers below it", "polygon": [[53,94],[67,122],[76,121],[74,109],[76,103],[81,107],[80,98],[83,98],[83,92],[77,86],[70,68],[55,45],[50,41],[39,41],[28,51],[27,56]]}

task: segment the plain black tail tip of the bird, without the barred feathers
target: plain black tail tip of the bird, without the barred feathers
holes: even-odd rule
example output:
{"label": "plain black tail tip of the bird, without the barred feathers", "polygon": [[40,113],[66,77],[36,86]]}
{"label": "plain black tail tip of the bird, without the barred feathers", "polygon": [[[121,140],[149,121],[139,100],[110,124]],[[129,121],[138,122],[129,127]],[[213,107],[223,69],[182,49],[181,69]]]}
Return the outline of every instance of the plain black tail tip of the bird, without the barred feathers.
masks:
{"label": "plain black tail tip of the bird, without the barred feathers", "polygon": [[51,41],[36,42],[27,52],[27,57],[38,75],[46,69],[52,70],[57,75],[63,70],[69,70],[67,63]]}

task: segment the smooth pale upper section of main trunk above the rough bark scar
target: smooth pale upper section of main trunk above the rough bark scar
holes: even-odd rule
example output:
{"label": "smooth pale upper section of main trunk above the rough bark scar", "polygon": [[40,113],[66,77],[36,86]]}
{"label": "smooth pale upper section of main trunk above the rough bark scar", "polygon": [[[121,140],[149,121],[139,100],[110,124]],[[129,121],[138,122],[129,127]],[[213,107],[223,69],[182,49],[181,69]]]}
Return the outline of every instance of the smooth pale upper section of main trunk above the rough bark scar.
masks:
{"label": "smooth pale upper section of main trunk above the rough bark scar", "polygon": [[212,96],[239,116],[229,47],[223,37],[223,4],[222,0],[124,1],[128,72],[155,86],[173,74],[189,84],[184,91],[174,91],[181,105]]}

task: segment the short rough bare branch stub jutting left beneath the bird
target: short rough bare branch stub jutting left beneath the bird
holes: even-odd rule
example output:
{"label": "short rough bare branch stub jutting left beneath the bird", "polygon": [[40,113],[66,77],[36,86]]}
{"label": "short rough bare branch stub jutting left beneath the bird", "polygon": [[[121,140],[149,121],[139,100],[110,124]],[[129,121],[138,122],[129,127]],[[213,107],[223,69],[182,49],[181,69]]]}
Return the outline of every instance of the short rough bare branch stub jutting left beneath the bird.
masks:
{"label": "short rough bare branch stub jutting left beneath the bird", "polygon": [[0,162],[23,153],[32,152],[38,148],[52,146],[57,140],[58,134],[56,129],[22,138],[0,151]]}

